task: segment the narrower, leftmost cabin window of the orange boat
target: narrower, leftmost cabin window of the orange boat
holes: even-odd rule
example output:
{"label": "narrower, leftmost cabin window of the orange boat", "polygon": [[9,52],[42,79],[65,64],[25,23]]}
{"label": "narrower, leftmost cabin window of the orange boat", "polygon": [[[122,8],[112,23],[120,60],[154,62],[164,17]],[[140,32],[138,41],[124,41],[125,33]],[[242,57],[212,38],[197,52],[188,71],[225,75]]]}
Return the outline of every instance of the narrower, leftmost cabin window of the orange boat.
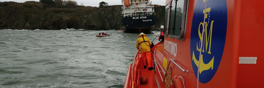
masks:
{"label": "narrower, leftmost cabin window of the orange boat", "polygon": [[165,6],[165,13],[164,13],[164,36],[165,37],[167,37],[167,30],[168,30],[168,21],[169,21],[169,12],[170,12],[170,4],[167,4],[166,6]]}

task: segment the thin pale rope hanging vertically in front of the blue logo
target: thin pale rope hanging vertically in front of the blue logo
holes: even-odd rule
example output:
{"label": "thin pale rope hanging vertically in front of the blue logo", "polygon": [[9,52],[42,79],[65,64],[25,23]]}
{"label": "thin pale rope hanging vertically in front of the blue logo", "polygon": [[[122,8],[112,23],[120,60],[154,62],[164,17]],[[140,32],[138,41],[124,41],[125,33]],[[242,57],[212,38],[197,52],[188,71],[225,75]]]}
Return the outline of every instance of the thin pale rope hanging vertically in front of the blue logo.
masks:
{"label": "thin pale rope hanging vertically in front of the blue logo", "polygon": [[[205,0],[205,6],[204,6],[204,7],[205,7],[205,12],[204,12],[204,23],[205,23],[205,14],[206,14],[206,1],[207,1],[207,0]],[[205,26],[204,26],[204,25],[205,25],[204,23],[203,23],[202,41],[201,41],[201,48],[200,48],[201,50],[200,50],[200,55],[199,55],[199,65],[198,65],[198,71],[197,71],[197,88],[199,88],[199,74],[200,74],[200,71],[199,71],[199,70],[200,70],[201,55],[202,55],[202,47],[203,47],[203,40],[204,40],[204,31],[205,31],[205,30],[204,30],[204,27],[205,27]],[[194,56],[193,56],[193,57],[194,57]]]}

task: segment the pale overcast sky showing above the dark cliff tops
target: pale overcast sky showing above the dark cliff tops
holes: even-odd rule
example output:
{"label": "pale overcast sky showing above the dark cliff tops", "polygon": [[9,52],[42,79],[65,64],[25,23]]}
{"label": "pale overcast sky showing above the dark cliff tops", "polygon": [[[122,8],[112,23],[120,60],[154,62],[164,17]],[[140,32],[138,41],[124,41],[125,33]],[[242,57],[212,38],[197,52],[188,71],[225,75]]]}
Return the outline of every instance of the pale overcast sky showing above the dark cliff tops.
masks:
{"label": "pale overcast sky showing above the dark cliff tops", "polygon": [[[39,0],[0,0],[0,2],[4,1],[15,1],[15,2],[25,2],[25,1],[39,1]],[[99,6],[99,3],[101,1],[107,2],[109,5],[119,5],[121,4],[121,0],[75,0],[80,5],[81,3],[84,3],[85,6]],[[158,4],[158,5],[165,5],[166,0],[151,0],[152,4]]]}

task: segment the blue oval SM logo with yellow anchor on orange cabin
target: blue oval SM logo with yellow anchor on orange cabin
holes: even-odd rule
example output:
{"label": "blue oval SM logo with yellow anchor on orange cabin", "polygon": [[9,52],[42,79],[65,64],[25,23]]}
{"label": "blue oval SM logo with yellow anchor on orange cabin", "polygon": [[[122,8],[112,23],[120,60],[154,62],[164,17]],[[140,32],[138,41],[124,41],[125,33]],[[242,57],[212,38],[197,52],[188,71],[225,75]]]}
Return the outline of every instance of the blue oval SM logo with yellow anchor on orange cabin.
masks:
{"label": "blue oval SM logo with yellow anchor on orange cabin", "polygon": [[[199,55],[202,51],[199,67],[199,81],[209,82],[215,75],[224,52],[227,28],[226,0],[197,0],[191,31],[192,68],[197,77]],[[206,9],[205,9],[206,3]],[[204,22],[205,13],[205,25]],[[202,31],[204,28],[204,38]],[[203,45],[201,41],[203,40]],[[202,46],[202,47],[201,47]]]}

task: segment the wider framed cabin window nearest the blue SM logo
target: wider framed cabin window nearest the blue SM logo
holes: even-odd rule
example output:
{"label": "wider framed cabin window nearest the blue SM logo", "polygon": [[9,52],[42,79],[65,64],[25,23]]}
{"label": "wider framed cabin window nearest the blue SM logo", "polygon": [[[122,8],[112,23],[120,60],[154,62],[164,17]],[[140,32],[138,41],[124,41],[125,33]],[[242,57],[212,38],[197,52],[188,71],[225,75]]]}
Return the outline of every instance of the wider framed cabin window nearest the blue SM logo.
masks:
{"label": "wider framed cabin window nearest the blue SM logo", "polygon": [[169,37],[184,38],[188,0],[172,0]]}

